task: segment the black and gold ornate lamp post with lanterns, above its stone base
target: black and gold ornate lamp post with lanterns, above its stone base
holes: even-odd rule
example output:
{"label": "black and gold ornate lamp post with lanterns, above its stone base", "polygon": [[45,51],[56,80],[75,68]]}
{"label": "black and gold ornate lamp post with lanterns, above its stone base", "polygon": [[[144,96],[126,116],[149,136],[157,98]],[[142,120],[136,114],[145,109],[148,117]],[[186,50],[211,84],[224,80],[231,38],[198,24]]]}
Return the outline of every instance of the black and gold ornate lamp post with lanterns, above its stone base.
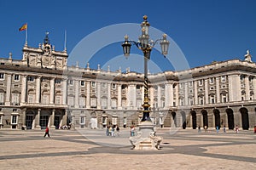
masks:
{"label": "black and gold ornate lamp post with lanterns, above its stone base", "polygon": [[143,103],[143,119],[142,122],[150,121],[149,117],[149,99],[148,99],[148,59],[150,59],[150,53],[154,45],[160,41],[160,46],[162,50],[162,54],[165,56],[168,53],[168,47],[170,42],[166,40],[166,34],[163,35],[162,39],[157,39],[156,41],[149,41],[149,23],[148,23],[148,16],[143,16],[143,23],[141,24],[142,27],[142,35],[138,37],[138,42],[130,41],[129,37],[125,36],[125,42],[123,42],[122,47],[124,50],[125,57],[130,55],[131,51],[131,44],[137,46],[137,48],[141,49],[144,54],[144,103]]}

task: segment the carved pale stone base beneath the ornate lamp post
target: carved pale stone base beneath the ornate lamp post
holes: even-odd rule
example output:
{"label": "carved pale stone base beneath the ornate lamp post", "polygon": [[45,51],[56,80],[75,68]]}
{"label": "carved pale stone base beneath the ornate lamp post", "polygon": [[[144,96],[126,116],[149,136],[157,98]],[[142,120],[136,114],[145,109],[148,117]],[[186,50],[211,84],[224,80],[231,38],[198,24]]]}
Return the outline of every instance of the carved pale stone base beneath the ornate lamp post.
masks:
{"label": "carved pale stone base beneath the ornate lamp post", "polygon": [[159,150],[162,137],[155,136],[152,122],[142,122],[137,136],[130,137],[133,150]]}

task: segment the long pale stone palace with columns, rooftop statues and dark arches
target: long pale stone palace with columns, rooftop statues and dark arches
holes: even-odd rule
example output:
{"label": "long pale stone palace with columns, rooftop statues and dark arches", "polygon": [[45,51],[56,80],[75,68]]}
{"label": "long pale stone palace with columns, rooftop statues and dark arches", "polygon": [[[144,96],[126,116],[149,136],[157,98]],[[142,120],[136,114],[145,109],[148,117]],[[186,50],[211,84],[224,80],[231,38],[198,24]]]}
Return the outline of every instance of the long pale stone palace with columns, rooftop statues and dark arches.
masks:
{"label": "long pale stone palace with columns, rooftop statues and dark arches", "polygon": [[[22,59],[0,59],[0,127],[12,129],[130,127],[143,116],[143,74],[67,66],[67,50],[46,36]],[[149,74],[150,116],[156,127],[256,124],[256,64],[212,62],[186,71]]]}

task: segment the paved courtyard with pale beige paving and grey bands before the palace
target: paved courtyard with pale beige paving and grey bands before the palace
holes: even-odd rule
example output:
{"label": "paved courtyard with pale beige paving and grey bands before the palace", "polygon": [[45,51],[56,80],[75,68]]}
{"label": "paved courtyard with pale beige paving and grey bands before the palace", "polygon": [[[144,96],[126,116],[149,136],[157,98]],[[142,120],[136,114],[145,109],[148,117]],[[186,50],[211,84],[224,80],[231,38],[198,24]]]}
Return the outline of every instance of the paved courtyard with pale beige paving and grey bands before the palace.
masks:
{"label": "paved courtyard with pale beige paving and grey bands before the palace", "polygon": [[256,169],[253,131],[158,129],[160,150],[131,150],[129,129],[0,130],[0,169]]}

